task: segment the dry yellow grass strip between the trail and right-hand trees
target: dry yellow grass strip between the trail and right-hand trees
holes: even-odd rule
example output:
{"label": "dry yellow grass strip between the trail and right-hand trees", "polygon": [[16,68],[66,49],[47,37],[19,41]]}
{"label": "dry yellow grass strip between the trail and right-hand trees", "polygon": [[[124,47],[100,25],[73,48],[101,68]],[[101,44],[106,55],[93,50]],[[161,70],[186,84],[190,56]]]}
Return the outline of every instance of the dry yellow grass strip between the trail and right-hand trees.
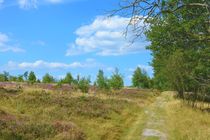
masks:
{"label": "dry yellow grass strip between the trail and right-hand trees", "polygon": [[168,96],[165,109],[170,140],[210,140],[210,113],[194,109],[173,96]]}

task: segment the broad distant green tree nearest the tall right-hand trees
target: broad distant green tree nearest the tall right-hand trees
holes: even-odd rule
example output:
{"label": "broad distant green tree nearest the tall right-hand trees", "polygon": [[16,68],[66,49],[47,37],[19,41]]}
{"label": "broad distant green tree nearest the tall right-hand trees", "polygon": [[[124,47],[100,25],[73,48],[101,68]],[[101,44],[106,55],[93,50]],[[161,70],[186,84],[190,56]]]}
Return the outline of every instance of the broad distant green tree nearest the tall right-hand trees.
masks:
{"label": "broad distant green tree nearest the tall right-hand trees", "polygon": [[134,87],[138,88],[149,88],[151,86],[150,78],[146,71],[142,71],[139,67],[133,73],[132,83]]}

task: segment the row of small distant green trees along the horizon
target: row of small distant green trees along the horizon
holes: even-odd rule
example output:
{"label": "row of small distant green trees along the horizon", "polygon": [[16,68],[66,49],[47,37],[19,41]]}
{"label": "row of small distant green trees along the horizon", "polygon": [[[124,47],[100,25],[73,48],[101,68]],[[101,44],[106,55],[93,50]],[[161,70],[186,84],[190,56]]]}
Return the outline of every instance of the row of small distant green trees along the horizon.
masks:
{"label": "row of small distant green trees along the horizon", "polygon": [[[132,86],[136,88],[152,88],[153,80],[148,76],[145,70],[137,67],[133,72],[132,76]],[[55,83],[58,86],[63,84],[69,84],[72,86],[77,86],[82,92],[88,92],[89,87],[91,86],[90,76],[81,77],[77,75],[76,78],[72,76],[70,72],[66,73],[65,77],[57,80],[49,73],[46,73],[42,79],[38,79],[36,74],[33,71],[26,71],[22,75],[13,76],[8,72],[0,73],[0,82],[27,82],[28,84],[35,83]],[[120,90],[124,87],[124,80],[122,74],[116,68],[112,73],[111,77],[107,78],[103,70],[99,70],[97,78],[93,83],[93,86],[97,87],[100,90],[109,91]]]}

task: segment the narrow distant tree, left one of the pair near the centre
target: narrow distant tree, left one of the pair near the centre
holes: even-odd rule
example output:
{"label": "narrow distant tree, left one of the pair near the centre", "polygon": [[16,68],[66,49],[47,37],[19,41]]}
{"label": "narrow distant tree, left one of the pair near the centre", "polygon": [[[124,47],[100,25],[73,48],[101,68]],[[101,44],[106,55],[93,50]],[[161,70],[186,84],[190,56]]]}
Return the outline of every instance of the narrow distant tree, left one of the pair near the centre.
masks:
{"label": "narrow distant tree, left one of the pair near the centre", "polygon": [[109,89],[108,79],[106,77],[104,77],[103,70],[98,71],[98,75],[97,75],[97,79],[96,79],[95,84],[99,89],[103,89],[103,90],[108,90]]}

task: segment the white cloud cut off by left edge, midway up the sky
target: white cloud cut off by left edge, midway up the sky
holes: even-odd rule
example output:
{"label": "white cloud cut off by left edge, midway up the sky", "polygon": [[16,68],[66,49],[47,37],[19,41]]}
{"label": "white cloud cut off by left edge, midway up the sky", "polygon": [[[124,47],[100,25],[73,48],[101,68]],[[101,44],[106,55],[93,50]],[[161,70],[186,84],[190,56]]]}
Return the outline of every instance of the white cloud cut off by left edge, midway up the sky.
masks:
{"label": "white cloud cut off by left edge, midway up the sky", "polygon": [[0,32],[0,52],[25,52],[25,50],[17,47],[17,44],[12,44],[8,35]]}

